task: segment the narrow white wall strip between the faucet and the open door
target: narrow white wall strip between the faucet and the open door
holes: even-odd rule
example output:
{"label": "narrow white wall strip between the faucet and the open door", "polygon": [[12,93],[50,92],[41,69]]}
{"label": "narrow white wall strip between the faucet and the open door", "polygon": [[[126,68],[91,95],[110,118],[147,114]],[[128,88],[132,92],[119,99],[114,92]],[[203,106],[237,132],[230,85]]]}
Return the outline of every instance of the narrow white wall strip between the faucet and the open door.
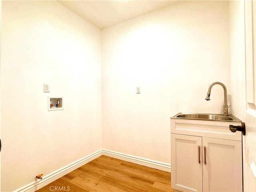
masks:
{"label": "narrow white wall strip between the faucet and the open door", "polygon": [[232,114],[245,119],[246,77],[245,77],[245,40],[244,40],[244,2],[230,1],[230,65]]}

